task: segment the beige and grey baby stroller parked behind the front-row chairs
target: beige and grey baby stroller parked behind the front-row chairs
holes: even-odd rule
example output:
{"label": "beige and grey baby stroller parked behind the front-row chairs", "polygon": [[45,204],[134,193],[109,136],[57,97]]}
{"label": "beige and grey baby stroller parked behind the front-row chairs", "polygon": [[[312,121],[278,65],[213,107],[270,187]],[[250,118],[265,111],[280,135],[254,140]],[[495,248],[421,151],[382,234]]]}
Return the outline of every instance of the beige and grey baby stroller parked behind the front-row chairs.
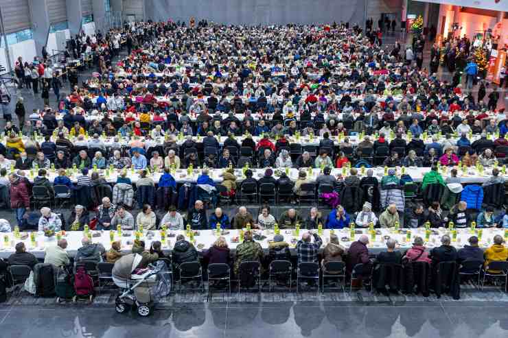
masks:
{"label": "beige and grey baby stroller parked behind the front-row chairs", "polygon": [[121,289],[115,300],[117,313],[126,313],[136,306],[137,313],[146,317],[152,313],[154,301],[170,292],[165,263],[159,261],[151,269],[138,269],[141,259],[139,254],[128,254],[113,267],[113,282]]}

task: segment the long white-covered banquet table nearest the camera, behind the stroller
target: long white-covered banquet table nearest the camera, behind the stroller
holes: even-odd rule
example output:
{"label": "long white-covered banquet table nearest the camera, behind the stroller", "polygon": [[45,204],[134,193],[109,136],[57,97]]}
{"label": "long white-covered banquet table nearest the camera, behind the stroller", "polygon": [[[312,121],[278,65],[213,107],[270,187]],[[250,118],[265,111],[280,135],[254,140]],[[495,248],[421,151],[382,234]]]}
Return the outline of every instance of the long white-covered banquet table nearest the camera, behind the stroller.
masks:
{"label": "long white-covered banquet table nearest the camera, behind the stroller", "polygon": [[[404,230],[401,230],[400,232],[395,232],[393,229],[388,228],[380,228],[376,229],[379,230],[380,234],[376,235],[376,239],[373,240],[371,237],[371,234],[369,235],[370,243],[368,245],[369,252],[372,254],[376,254],[378,252],[386,250],[386,245],[384,244],[386,242],[386,239],[388,237],[392,237],[397,241],[397,250],[407,250],[411,248],[411,245],[413,243],[413,239],[416,236],[422,237],[422,239],[425,239],[425,229],[424,228],[417,228],[417,229],[410,229],[411,230],[411,238],[407,238],[407,234],[402,233]],[[406,230],[406,229],[405,229]],[[467,239],[472,236],[473,234],[476,234],[478,236],[478,230],[472,231],[470,228],[465,229],[457,229],[457,239],[455,241],[452,241],[452,245],[459,249],[462,248],[463,245],[467,244]],[[106,250],[109,250],[111,248],[111,241],[110,241],[110,234],[109,231],[93,231],[90,230],[92,234],[100,234],[100,237],[93,237],[92,241],[93,243],[102,243],[104,245],[104,248]],[[262,245],[262,248],[266,251],[268,250],[268,242],[273,240],[274,232],[273,230],[254,230],[255,232],[258,232],[259,234],[262,234],[265,239],[261,241],[257,241],[259,244]],[[281,229],[280,232],[284,236],[284,239],[290,243],[290,249],[292,252],[295,252],[295,247],[298,239],[301,238],[301,235],[303,232],[307,230],[300,230],[299,236],[296,235],[295,230],[284,230]],[[132,242],[134,241],[134,232],[133,231],[123,231],[122,237],[119,237],[117,232],[113,230],[115,234],[115,241],[118,241],[119,239],[122,242],[122,252],[130,252],[132,249]],[[317,230],[314,230],[314,232],[317,233]],[[334,230],[335,234],[338,236],[340,244],[345,246],[345,248],[349,248],[349,245],[351,245],[350,241],[350,230],[349,228],[341,229],[341,230]],[[356,229],[356,234],[354,239],[358,240],[358,238],[361,236],[361,234],[367,234],[368,229]],[[361,233],[358,233],[361,232]],[[501,236],[505,237],[505,232],[508,232],[508,230],[505,229],[498,229],[498,228],[487,228],[482,229],[482,237],[481,241],[479,243],[479,246],[485,250],[487,247],[492,245],[493,238],[496,234],[500,234]],[[21,233],[23,234],[23,233]],[[32,244],[32,241],[30,240],[30,236],[27,239],[21,240],[14,238],[14,234],[12,232],[5,232],[1,234],[1,240],[0,240],[0,257],[6,258],[10,256],[10,254],[14,253],[14,245],[16,243],[19,243],[19,241],[23,241],[26,245],[27,251],[32,252],[32,254],[36,255],[37,257],[42,258],[44,256],[45,248],[56,245],[56,237],[45,237],[43,232],[37,232],[36,233],[36,242],[35,245]],[[129,236],[124,236],[124,234],[129,234]],[[151,236],[150,236],[150,235]],[[163,244],[163,250],[164,251],[170,251],[172,250],[174,243],[176,241],[176,234],[184,234],[186,239],[188,239],[186,231],[185,230],[179,230],[179,231],[168,231],[168,238]],[[430,238],[428,241],[426,241],[425,246],[428,250],[434,248],[435,246],[441,245],[441,236],[443,234],[450,234],[450,231],[447,228],[439,228],[439,229],[432,229],[432,234],[430,234]],[[78,248],[81,247],[81,239],[83,238],[84,233],[81,231],[69,231],[66,232],[66,236],[62,237],[67,239],[68,246],[67,246],[67,252],[69,255],[74,256],[78,250]],[[235,250],[237,245],[240,243],[235,243],[232,241],[233,238],[239,236],[239,230],[227,230],[227,233],[221,234],[221,236],[225,237],[227,239],[227,243],[229,245],[229,248],[231,250]],[[198,251],[203,251],[211,247],[213,245],[213,242],[216,241],[218,235],[216,230],[199,230],[198,234],[194,236],[194,244],[196,245],[196,248]],[[450,237],[452,237],[450,235]],[[506,237],[505,237],[506,238]],[[5,239],[7,239],[7,242],[5,242]],[[143,239],[145,241],[146,248],[150,248],[150,245],[152,241],[161,241],[161,234],[159,230],[150,230],[150,231],[144,231],[143,235],[140,237],[140,239]],[[330,230],[323,229],[323,233],[321,234],[321,239],[323,239],[323,245],[321,248],[324,248],[324,245],[329,241],[330,239]]]}

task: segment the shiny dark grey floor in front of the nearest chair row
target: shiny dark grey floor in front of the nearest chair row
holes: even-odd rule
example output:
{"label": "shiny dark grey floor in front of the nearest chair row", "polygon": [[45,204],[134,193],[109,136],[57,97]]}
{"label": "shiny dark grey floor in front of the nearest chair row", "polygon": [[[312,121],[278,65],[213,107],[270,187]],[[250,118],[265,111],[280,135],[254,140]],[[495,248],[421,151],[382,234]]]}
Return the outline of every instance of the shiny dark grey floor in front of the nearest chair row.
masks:
{"label": "shiny dark grey floor in front of the nearest chair row", "polygon": [[505,302],[187,303],[148,318],[111,306],[0,308],[0,337],[508,337]]}

